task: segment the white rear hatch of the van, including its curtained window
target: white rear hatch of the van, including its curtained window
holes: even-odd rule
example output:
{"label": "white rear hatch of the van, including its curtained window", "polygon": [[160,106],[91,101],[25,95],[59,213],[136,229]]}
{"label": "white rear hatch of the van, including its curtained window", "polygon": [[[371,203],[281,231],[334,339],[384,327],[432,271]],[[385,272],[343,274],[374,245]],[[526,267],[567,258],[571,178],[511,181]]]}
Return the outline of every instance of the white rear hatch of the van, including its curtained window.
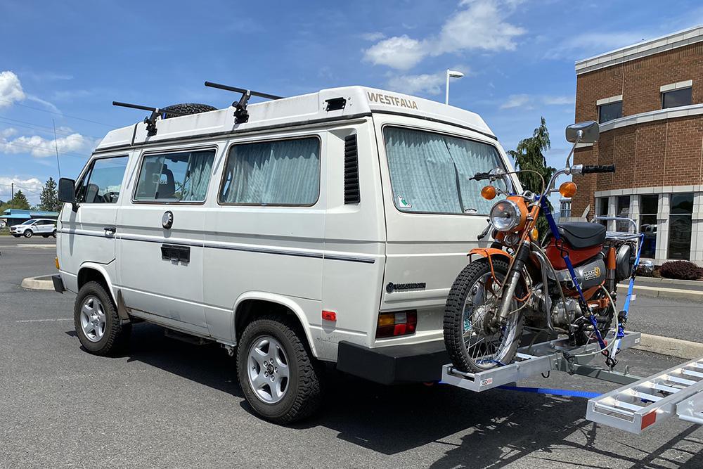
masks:
{"label": "white rear hatch of the van, including its curtained window", "polygon": [[477,172],[508,167],[496,140],[411,117],[375,115],[387,246],[381,311],[418,311],[415,334],[379,339],[422,342],[442,336],[444,303],[487,224],[495,200],[481,198]]}

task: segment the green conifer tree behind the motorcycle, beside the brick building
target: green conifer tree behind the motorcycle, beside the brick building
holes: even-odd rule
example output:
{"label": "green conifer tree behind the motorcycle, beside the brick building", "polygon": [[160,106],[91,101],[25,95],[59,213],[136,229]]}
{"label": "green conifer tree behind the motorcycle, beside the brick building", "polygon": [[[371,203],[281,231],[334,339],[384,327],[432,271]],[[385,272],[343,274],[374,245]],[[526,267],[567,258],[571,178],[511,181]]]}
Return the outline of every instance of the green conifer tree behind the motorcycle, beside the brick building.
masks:
{"label": "green conifer tree behind the motorcycle, beside the brick building", "polygon": [[[525,190],[538,194],[542,193],[543,184],[549,184],[556,171],[555,168],[547,165],[547,160],[544,158],[543,152],[549,148],[551,148],[551,142],[547,122],[542,117],[539,127],[534,129],[532,136],[517,143],[515,150],[508,151],[508,155],[515,160],[515,169],[527,171],[517,173],[517,179],[520,179],[520,184]],[[549,206],[551,208],[551,204]],[[549,231],[547,219],[543,214],[540,214],[537,219],[537,229],[541,234]]]}

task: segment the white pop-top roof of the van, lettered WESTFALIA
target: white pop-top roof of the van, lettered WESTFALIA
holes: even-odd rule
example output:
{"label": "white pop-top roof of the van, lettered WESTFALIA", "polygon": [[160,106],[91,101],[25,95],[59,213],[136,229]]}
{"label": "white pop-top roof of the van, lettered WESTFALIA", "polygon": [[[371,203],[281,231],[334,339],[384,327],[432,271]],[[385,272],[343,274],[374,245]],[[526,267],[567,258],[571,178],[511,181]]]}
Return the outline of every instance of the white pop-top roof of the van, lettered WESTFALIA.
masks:
{"label": "white pop-top roof of the van, lettered WESTFALIA", "polygon": [[[346,100],[344,108],[327,110],[328,100],[335,98]],[[247,111],[248,122],[240,124],[235,124],[233,107],[165,120],[159,119],[156,126],[157,133],[154,136],[148,136],[146,124],[139,122],[108,132],[96,150],[162,140],[195,138],[208,134],[231,134],[269,127],[311,124],[370,115],[370,113],[400,113],[426,120],[448,122],[494,136],[486,122],[476,113],[437,101],[363,86],[323,89],[311,94],[252,103],[247,106]]]}

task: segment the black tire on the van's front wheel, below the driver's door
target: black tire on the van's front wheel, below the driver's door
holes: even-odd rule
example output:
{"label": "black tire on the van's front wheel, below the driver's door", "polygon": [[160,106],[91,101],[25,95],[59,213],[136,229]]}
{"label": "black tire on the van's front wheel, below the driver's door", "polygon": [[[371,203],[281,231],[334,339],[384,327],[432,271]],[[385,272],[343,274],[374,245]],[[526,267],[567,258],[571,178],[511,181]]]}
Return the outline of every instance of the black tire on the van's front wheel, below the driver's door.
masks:
{"label": "black tire on the van's front wheel, below the driver's door", "polygon": [[[81,309],[87,297],[97,297],[102,303],[105,311],[105,332],[103,337],[98,342],[89,340],[81,326]],[[110,293],[105,290],[101,283],[92,281],[83,285],[78,291],[76,302],[73,306],[73,324],[76,328],[76,334],[81,341],[81,345],[91,354],[107,355],[113,352],[129,337],[131,332],[131,324],[120,323],[120,317],[117,316],[117,307],[112,301]]]}

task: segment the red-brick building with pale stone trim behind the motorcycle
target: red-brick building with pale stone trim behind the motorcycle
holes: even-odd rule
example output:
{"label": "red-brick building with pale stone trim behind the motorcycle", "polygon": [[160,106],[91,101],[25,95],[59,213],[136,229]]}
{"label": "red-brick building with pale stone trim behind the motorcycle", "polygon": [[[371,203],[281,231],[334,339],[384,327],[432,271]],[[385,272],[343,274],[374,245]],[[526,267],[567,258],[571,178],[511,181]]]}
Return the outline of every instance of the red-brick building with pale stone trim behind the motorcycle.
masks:
{"label": "red-brick building with pale stone trim behind the motorcycle", "polygon": [[703,265],[703,27],[579,60],[583,120],[600,122],[600,139],[579,145],[574,162],[616,172],[575,179],[572,217],[633,218],[643,257]]}

